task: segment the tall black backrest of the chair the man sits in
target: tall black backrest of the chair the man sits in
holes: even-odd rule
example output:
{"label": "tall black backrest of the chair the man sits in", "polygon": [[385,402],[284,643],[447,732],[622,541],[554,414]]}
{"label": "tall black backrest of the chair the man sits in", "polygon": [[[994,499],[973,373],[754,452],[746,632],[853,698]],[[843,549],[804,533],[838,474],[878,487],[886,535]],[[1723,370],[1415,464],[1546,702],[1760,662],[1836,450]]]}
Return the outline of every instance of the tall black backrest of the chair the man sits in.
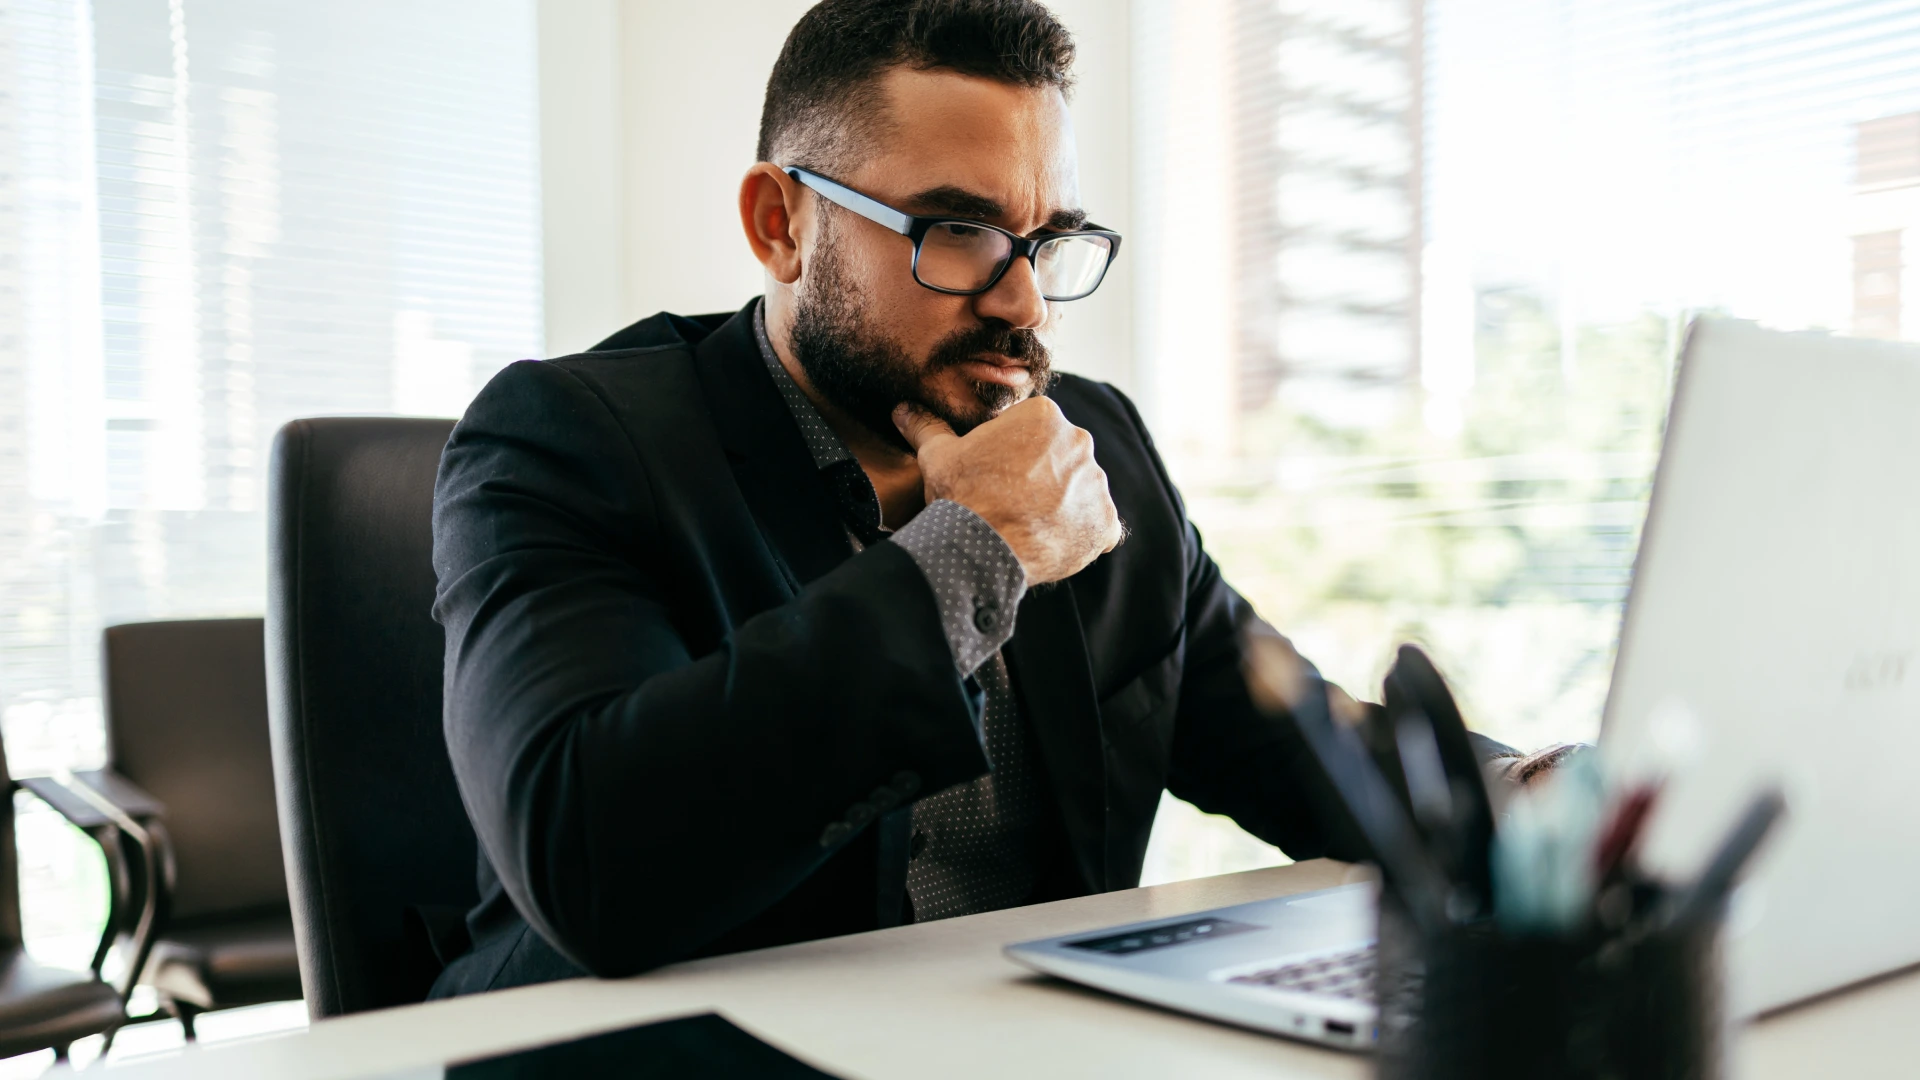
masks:
{"label": "tall black backrest of the chair the man sits in", "polygon": [[432,503],[453,421],[305,419],[273,444],[267,701],[315,1019],[419,1001],[409,907],[470,907],[440,726]]}

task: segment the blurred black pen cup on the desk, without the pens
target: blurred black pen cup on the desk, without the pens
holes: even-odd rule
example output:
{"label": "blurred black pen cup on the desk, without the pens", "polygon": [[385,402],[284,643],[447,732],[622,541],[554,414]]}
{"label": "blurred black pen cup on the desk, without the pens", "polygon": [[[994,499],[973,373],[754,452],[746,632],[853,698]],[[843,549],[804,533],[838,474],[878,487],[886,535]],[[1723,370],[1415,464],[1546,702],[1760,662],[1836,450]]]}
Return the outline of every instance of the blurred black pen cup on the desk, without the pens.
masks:
{"label": "blurred black pen cup on the desk, without the pens", "polygon": [[[1630,899],[1628,899],[1630,896]],[[1667,924],[1655,886],[1620,926],[1509,934],[1492,919],[1423,930],[1380,897],[1382,1080],[1716,1080],[1720,922]]]}

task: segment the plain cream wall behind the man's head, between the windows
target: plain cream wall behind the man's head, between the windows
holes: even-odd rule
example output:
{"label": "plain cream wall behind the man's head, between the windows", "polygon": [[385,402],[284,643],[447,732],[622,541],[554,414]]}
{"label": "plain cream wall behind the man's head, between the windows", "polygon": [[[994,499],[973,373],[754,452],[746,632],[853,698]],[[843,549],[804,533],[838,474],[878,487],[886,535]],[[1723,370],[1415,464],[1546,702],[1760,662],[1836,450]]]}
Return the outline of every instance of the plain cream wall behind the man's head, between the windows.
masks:
{"label": "plain cream wall behind the man's head, between the windows", "polygon": [[[574,352],[653,311],[722,311],[760,292],[733,211],[766,73],[810,0],[541,0],[547,350]],[[1081,44],[1081,194],[1133,221],[1129,4],[1062,0]],[[1069,307],[1058,365],[1131,388],[1133,273]]]}

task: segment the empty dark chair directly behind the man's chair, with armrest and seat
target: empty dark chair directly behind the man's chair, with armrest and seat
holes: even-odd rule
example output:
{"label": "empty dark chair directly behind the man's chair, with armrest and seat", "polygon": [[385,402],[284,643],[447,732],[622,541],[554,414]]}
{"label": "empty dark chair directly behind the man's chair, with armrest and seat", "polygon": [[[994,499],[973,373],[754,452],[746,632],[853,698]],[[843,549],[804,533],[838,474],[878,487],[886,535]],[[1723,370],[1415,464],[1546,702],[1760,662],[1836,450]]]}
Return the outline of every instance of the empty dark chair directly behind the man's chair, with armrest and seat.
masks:
{"label": "empty dark chair directly behind the man's chair, with armrest and seat", "polygon": [[209,1009],[300,997],[259,619],[108,626],[111,765],[94,796],[163,813],[175,872],[140,982],[194,1038]]}

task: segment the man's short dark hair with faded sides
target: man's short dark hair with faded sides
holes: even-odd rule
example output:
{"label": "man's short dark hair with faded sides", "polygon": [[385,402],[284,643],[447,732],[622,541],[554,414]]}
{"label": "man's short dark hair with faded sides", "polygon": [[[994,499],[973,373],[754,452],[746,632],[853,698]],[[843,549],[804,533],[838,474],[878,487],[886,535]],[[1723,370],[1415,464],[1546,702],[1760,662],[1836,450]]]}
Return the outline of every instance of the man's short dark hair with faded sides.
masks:
{"label": "man's short dark hair with faded sides", "polygon": [[1073,35],[1035,0],[822,0],[795,23],[766,81],[758,160],[835,167],[877,133],[876,83],[899,65],[1066,94]]}

